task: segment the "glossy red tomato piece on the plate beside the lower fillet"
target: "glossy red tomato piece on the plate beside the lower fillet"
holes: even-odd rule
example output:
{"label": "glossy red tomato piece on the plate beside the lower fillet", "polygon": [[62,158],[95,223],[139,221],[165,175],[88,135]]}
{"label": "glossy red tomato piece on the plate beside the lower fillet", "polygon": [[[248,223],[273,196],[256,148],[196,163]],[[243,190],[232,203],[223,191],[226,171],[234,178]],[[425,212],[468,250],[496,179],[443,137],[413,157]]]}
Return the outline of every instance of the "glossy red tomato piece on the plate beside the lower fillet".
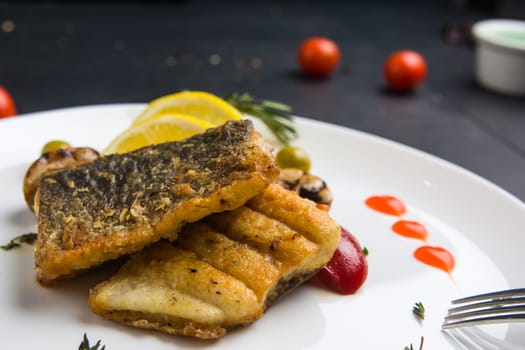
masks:
{"label": "glossy red tomato piece on the plate beside the lower fillet", "polygon": [[355,237],[341,228],[341,241],[334,256],[318,273],[317,278],[341,294],[355,293],[368,276],[368,262]]}

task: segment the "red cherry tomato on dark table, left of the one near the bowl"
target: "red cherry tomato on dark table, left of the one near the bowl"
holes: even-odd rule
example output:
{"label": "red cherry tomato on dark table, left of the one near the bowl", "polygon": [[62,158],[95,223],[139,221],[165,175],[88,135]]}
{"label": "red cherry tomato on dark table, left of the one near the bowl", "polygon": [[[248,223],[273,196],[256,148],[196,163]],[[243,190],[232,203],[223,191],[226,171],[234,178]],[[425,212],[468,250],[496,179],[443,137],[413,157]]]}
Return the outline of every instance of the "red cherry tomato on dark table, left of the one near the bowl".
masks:
{"label": "red cherry tomato on dark table, left of the one near the bowl", "polygon": [[339,65],[341,52],[332,40],[314,36],[301,43],[297,50],[297,59],[307,75],[326,77]]}

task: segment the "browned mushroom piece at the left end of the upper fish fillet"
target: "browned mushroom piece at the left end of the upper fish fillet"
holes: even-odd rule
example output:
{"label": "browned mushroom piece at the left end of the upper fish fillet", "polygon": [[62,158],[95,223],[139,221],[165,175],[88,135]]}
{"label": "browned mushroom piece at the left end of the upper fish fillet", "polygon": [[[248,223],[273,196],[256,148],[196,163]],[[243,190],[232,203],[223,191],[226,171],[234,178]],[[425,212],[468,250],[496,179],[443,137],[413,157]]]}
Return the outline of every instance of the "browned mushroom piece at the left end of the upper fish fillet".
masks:
{"label": "browned mushroom piece at the left end of the upper fish fillet", "polygon": [[99,158],[99,153],[89,147],[61,148],[54,152],[44,153],[27,169],[24,177],[24,198],[31,211],[35,210],[35,194],[42,175],[58,169],[71,168]]}

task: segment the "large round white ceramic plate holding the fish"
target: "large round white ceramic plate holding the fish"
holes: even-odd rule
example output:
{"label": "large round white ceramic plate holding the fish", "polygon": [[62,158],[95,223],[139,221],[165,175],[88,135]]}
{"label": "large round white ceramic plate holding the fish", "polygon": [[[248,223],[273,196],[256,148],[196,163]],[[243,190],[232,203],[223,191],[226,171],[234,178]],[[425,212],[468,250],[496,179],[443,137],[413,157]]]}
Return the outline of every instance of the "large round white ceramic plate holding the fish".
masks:
{"label": "large round white ceramic plate holding the fish", "polygon": [[[102,149],[143,105],[107,105],[36,113],[0,122],[0,242],[35,232],[22,179],[51,139]],[[76,349],[84,333],[118,349],[403,349],[453,347],[440,324],[451,298],[524,285],[525,206],[482,178],[412,148],[354,130],[298,118],[312,172],[331,187],[333,217],[369,250],[369,277],[353,296],[306,284],[253,325],[203,342],[128,328],[92,314],[86,277],[43,288],[34,280],[32,247],[0,251],[0,329],[10,349]],[[408,206],[403,218],[429,230],[430,245],[451,251],[452,275],[413,257],[423,242],[392,233],[397,218],[364,201],[389,194]],[[412,306],[421,301],[426,319]],[[504,338],[506,327],[488,332]],[[518,339],[519,340],[519,339]],[[521,339],[523,341],[523,339]]]}

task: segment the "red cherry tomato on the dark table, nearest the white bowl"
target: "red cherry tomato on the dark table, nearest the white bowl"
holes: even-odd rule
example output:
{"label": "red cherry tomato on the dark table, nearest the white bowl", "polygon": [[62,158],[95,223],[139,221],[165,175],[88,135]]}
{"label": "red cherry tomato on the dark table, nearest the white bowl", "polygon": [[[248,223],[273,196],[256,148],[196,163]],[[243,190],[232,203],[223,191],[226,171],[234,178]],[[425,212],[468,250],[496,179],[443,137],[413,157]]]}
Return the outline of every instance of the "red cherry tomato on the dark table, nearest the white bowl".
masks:
{"label": "red cherry tomato on the dark table, nearest the white bowl", "polygon": [[423,56],[415,51],[397,51],[386,59],[383,74],[390,89],[407,92],[425,79],[427,63]]}

